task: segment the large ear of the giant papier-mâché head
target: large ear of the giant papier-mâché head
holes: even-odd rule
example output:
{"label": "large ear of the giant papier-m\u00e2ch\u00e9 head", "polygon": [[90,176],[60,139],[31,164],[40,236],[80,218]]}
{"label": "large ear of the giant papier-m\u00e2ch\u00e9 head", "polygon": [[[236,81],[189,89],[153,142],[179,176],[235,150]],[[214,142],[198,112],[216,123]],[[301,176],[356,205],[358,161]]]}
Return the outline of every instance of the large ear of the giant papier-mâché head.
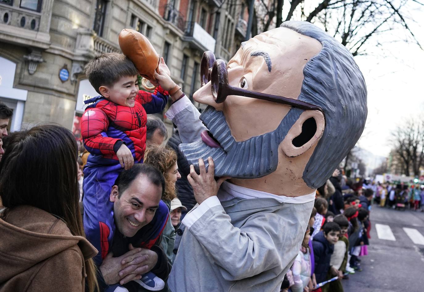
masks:
{"label": "large ear of the giant papier-m\u00e2ch\u00e9 head", "polygon": [[324,133],[325,120],[321,111],[304,111],[287,133],[280,147],[287,157],[296,157],[318,143]]}

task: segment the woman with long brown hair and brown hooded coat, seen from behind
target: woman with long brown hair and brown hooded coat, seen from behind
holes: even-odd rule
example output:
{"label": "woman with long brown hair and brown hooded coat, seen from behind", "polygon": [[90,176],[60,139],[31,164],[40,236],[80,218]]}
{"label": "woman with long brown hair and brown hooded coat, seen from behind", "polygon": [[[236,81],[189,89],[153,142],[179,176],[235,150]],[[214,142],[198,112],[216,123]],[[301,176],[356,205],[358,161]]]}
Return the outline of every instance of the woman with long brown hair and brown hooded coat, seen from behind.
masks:
{"label": "woman with long brown hair and brown hooded coat, seen from behind", "polygon": [[77,145],[59,125],[9,136],[0,164],[0,291],[95,291],[78,208]]}

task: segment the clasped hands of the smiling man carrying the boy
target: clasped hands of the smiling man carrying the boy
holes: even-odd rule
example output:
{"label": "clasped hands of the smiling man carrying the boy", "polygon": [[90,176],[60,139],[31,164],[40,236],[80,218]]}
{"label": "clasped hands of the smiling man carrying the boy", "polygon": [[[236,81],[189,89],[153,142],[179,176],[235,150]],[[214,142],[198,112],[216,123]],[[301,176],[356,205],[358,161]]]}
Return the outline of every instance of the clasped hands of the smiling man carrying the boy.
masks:
{"label": "clasped hands of the smiling man carrying the boy", "polygon": [[[122,261],[125,259],[128,259],[130,257],[134,257],[141,251],[141,248],[137,248],[134,250],[130,250],[124,255],[114,258],[113,253],[110,252],[107,254],[107,256],[103,259],[103,263],[100,266],[100,272],[103,275],[103,279],[105,280],[105,283],[108,285],[120,283],[121,285],[132,281],[132,280],[139,280],[141,279],[141,275],[134,274],[134,273],[122,273],[122,270],[125,269],[125,264],[122,264]],[[144,261],[148,258],[148,256],[143,255],[142,259],[138,259],[137,261]],[[148,272],[148,266],[144,266],[144,272]],[[121,275],[122,273],[122,275]]]}

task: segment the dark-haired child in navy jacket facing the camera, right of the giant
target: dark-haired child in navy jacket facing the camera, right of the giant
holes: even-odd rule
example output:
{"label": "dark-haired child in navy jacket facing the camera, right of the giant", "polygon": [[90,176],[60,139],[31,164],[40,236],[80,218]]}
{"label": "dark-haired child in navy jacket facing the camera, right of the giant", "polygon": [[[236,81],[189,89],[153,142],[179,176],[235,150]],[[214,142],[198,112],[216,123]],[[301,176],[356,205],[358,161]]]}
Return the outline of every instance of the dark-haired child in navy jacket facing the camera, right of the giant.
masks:
{"label": "dark-haired child in navy jacket facing the camera, right of the giant", "polygon": [[[341,273],[335,267],[330,266],[331,255],[334,251],[335,243],[338,242],[339,235],[339,225],[335,222],[328,222],[324,226],[324,230],[318,232],[312,240],[315,258],[315,277],[318,284],[326,281],[328,274],[339,275],[341,277]],[[314,291],[321,292],[322,290],[318,288]]]}

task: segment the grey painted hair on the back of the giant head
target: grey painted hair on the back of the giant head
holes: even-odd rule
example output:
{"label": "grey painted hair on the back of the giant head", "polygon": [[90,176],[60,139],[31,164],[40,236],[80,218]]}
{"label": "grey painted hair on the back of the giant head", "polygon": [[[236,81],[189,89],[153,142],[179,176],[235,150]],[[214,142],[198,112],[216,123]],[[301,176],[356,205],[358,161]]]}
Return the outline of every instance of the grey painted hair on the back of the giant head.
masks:
{"label": "grey painted hair on the back of the giant head", "polygon": [[289,28],[321,43],[321,51],[304,67],[298,97],[321,106],[326,117],[323,136],[303,172],[307,186],[318,188],[331,177],[361,136],[368,114],[364,77],[352,54],[320,28],[305,21],[286,21]]}

